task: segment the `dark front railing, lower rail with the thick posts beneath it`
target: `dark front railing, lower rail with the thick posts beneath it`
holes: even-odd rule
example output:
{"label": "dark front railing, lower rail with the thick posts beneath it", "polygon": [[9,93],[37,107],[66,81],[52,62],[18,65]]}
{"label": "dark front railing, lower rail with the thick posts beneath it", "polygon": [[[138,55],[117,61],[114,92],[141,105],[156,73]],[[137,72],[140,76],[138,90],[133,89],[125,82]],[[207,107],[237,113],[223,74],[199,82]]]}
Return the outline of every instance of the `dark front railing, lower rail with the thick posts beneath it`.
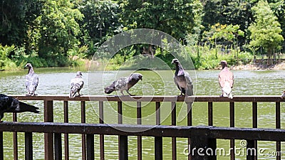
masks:
{"label": "dark front railing, lower rail with the thick posts beneath it", "polygon": [[[142,132],[135,131],[145,128]],[[217,159],[217,139],[246,139],[247,159],[254,159],[257,150],[252,149],[252,142],[262,141],[285,141],[284,129],[254,129],[234,127],[209,127],[209,126],[146,126],[128,124],[68,124],[53,122],[3,122],[0,124],[0,133],[3,132],[24,132],[25,133],[25,156],[26,159],[33,159],[32,133],[54,134],[55,159],[62,159],[61,134],[86,134],[87,159],[94,157],[94,134],[118,135],[119,137],[140,136],[140,137],[184,137],[192,139],[190,155],[192,159]],[[3,134],[0,134],[3,139]],[[0,142],[3,147],[3,142]],[[198,149],[202,149],[198,151]],[[0,150],[3,157],[3,149]],[[119,146],[120,158],[128,159],[128,141],[121,141]],[[191,152],[192,151],[192,152]],[[212,151],[212,152],[211,152]],[[155,148],[155,154],[161,154],[159,147]],[[156,156],[160,159],[160,156]]]}

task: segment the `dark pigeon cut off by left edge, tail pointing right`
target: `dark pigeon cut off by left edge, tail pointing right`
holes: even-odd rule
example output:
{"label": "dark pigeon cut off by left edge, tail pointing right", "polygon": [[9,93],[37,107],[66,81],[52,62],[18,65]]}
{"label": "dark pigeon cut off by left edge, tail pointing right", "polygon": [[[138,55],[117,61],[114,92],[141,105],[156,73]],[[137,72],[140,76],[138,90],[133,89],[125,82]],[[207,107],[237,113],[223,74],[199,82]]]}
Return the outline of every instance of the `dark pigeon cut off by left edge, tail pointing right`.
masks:
{"label": "dark pigeon cut off by left edge, tail pointing right", "polygon": [[38,107],[33,105],[28,105],[24,102],[20,102],[14,97],[9,97],[7,95],[0,94],[0,122],[4,117],[4,112],[33,112],[39,113]]}

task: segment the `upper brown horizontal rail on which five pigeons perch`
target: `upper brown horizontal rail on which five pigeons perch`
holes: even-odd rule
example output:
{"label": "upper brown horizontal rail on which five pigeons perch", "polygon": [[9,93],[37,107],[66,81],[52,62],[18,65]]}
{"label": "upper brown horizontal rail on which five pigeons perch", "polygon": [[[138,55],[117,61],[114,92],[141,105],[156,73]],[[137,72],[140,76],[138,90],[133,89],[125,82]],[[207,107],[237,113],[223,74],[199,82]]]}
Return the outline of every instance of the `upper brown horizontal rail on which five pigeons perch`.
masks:
{"label": "upper brown horizontal rail on which five pigeons perch", "polygon": [[10,95],[19,100],[61,100],[61,101],[135,101],[135,102],[285,102],[285,98],[279,95],[235,95],[233,99],[219,97],[217,95],[197,96],[105,96],[105,95],[83,95],[81,97],[69,98],[68,95]]}

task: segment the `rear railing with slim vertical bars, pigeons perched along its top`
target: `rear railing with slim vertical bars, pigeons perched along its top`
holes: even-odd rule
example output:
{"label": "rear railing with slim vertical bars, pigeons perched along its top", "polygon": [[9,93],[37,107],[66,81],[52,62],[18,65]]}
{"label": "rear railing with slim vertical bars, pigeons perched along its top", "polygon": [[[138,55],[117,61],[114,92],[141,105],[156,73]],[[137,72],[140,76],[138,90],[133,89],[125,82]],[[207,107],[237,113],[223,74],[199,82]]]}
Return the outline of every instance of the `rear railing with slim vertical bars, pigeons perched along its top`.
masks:
{"label": "rear railing with slim vertical bars, pigeons perched along its top", "polygon": [[[81,122],[84,126],[86,123],[86,101],[97,101],[99,102],[99,123],[104,123],[104,102],[105,101],[113,101],[118,102],[118,124],[122,124],[123,122],[123,103],[122,102],[137,102],[137,124],[142,124],[140,117],[142,117],[141,112],[141,102],[155,102],[155,110],[156,110],[156,124],[160,125],[160,108],[161,102],[171,102],[172,105],[172,125],[176,125],[176,102],[208,102],[208,125],[213,125],[213,102],[229,102],[229,120],[230,127],[234,127],[234,104],[235,102],[252,102],[252,127],[257,128],[257,108],[258,102],[275,102],[276,107],[276,129],[281,128],[281,120],[280,120],[280,102],[284,102],[284,99],[281,99],[280,96],[277,95],[250,95],[250,96],[238,96],[235,95],[232,100],[227,97],[219,97],[219,96],[191,96],[191,97],[177,97],[177,96],[101,96],[101,95],[90,95],[90,96],[82,96],[76,98],[69,98],[66,95],[37,95],[34,97],[27,97],[24,95],[11,95],[13,97],[17,97],[19,100],[40,100],[43,101],[44,104],[44,122],[53,122],[53,101],[63,101],[64,108],[64,122],[68,123],[68,101],[81,101]],[[192,110],[191,106],[187,105],[187,126],[192,126]],[[16,121],[16,114],[14,114],[14,121]],[[229,131],[227,131],[229,132]],[[64,132],[61,132],[64,133]],[[1,136],[0,132],[0,136]],[[68,154],[68,134],[64,133],[64,148],[65,148],[65,159],[69,159]],[[25,134],[26,139],[31,138],[31,134]],[[60,134],[53,134],[51,132],[45,132],[45,159],[53,159],[53,143],[61,144],[61,142],[56,141]],[[234,137],[230,136],[228,139],[230,140],[230,147],[234,147]],[[93,135],[83,133],[82,134],[82,159],[87,159],[86,156],[88,153],[92,153],[92,151],[88,151],[86,145],[90,142],[90,139],[94,139]],[[223,139],[227,139],[227,137],[223,137]],[[239,139],[239,138],[238,138]],[[250,139],[248,144],[252,145],[254,149],[257,149],[257,140],[261,139]],[[276,151],[281,151],[281,142],[280,139],[276,139]],[[87,142],[87,144],[86,144]],[[92,141],[91,141],[92,142]],[[123,159],[125,156],[125,152],[122,152],[121,149],[128,148],[125,143],[128,142],[128,135],[119,135],[119,158]],[[188,144],[195,143],[193,139],[188,139]],[[214,143],[214,142],[213,142]],[[14,131],[14,159],[18,157],[17,153],[17,133]],[[29,144],[29,143],[28,143]],[[215,143],[214,143],[215,144]],[[212,145],[214,145],[212,144]],[[3,151],[3,146],[0,146],[0,152]],[[86,150],[87,149],[87,150]],[[177,159],[176,153],[176,138],[172,137],[172,159]],[[231,151],[231,159],[235,159],[234,151]],[[0,155],[1,157],[1,155]],[[15,158],[16,157],[16,158]],[[257,159],[257,155],[252,156],[253,159]],[[100,159],[105,159],[104,155],[104,134],[100,134]],[[138,135],[138,159],[142,159],[142,135]],[[155,159],[162,159],[162,137],[155,137]],[[188,159],[192,159],[192,156],[189,155]],[[281,159],[281,156],[277,155],[276,159]]]}

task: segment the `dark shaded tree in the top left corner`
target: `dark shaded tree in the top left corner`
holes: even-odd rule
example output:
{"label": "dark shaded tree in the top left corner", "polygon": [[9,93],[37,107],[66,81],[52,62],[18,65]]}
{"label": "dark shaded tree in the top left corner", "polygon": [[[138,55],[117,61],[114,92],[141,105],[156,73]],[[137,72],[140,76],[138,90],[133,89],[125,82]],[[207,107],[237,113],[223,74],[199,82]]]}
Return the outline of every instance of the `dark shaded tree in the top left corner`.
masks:
{"label": "dark shaded tree in the top left corner", "polygon": [[28,24],[39,13],[40,0],[0,0],[0,43],[21,46],[26,41]]}

